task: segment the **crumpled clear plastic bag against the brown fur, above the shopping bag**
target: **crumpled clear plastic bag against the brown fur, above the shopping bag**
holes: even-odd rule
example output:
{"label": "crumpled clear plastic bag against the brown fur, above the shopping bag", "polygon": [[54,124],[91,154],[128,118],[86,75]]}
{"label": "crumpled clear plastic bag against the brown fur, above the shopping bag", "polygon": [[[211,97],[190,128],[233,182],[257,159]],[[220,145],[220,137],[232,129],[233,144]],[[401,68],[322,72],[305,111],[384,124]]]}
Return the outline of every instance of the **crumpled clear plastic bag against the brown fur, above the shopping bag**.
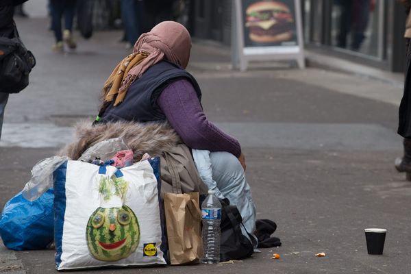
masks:
{"label": "crumpled clear plastic bag against the brown fur, above the shopping bag", "polygon": [[89,147],[77,160],[90,162],[99,158],[105,162],[113,158],[117,152],[127,149],[129,149],[129,147],[125,144],[123,138],[112,138],[97,142],[96,145]]}

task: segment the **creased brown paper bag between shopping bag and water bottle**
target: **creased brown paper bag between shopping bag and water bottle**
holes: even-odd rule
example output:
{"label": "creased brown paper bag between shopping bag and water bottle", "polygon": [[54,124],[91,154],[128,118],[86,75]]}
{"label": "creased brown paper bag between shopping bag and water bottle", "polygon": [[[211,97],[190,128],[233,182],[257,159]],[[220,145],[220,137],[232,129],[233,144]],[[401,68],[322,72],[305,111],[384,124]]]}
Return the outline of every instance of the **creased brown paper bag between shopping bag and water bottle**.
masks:
{"label": "creased brown paper bag between shopping bag and water bottle", "polygon": [[171,264],[199,262],[203,254],[199,192],[165,193],[164,211]]}

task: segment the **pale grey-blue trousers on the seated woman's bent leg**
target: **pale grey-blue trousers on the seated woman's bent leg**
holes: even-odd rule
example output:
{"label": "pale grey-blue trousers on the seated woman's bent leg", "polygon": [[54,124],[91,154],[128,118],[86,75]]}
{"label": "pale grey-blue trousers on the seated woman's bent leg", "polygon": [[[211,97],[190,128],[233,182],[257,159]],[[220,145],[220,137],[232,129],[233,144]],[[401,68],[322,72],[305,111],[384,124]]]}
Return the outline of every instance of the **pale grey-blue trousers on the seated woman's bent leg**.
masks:
{"label": "pale grey-blue trousers on the seated woman's bent leg", "polygon": [[[192,156],[204,184],[208,189],[216,190],[216,197],[227,198],[230,205],[237,206],[245,229],[253,235],[256,230],[256,206],[240,161],[232,153],[224,151],[192,149]],[[241,229],[242,234],[249,238],[244,227]],[[258,242],[256,236],[254,238],[254,242]]]}

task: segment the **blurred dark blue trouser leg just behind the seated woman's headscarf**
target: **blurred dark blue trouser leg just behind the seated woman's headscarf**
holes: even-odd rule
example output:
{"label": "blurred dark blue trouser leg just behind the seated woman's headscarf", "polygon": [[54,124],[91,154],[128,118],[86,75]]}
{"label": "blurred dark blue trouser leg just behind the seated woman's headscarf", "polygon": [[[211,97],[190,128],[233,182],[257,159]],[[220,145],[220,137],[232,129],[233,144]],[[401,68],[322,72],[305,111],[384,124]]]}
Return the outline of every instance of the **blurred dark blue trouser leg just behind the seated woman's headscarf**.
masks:
{"label": "blurred dark blue trouser leg just behind the seated woman's headscarf", "polygon": [[144,7],[139,0],[121,0],[121,20],[123,20],[125,38],[131,46],[144,32]]}

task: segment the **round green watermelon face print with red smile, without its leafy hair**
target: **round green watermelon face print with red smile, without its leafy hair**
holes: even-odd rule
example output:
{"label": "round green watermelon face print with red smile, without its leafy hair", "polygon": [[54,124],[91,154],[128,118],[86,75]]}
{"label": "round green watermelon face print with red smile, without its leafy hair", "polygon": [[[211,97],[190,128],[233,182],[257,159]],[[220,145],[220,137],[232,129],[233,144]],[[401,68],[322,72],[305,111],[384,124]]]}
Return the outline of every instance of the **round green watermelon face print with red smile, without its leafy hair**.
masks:
{"label": "round green watermelon face print with red smile, without its leafy hair", "polygon": [[88,249],[94,258],[117,261],[127,258],[140,242],[140,227],[128,206],[97,208],[87,223]]}

